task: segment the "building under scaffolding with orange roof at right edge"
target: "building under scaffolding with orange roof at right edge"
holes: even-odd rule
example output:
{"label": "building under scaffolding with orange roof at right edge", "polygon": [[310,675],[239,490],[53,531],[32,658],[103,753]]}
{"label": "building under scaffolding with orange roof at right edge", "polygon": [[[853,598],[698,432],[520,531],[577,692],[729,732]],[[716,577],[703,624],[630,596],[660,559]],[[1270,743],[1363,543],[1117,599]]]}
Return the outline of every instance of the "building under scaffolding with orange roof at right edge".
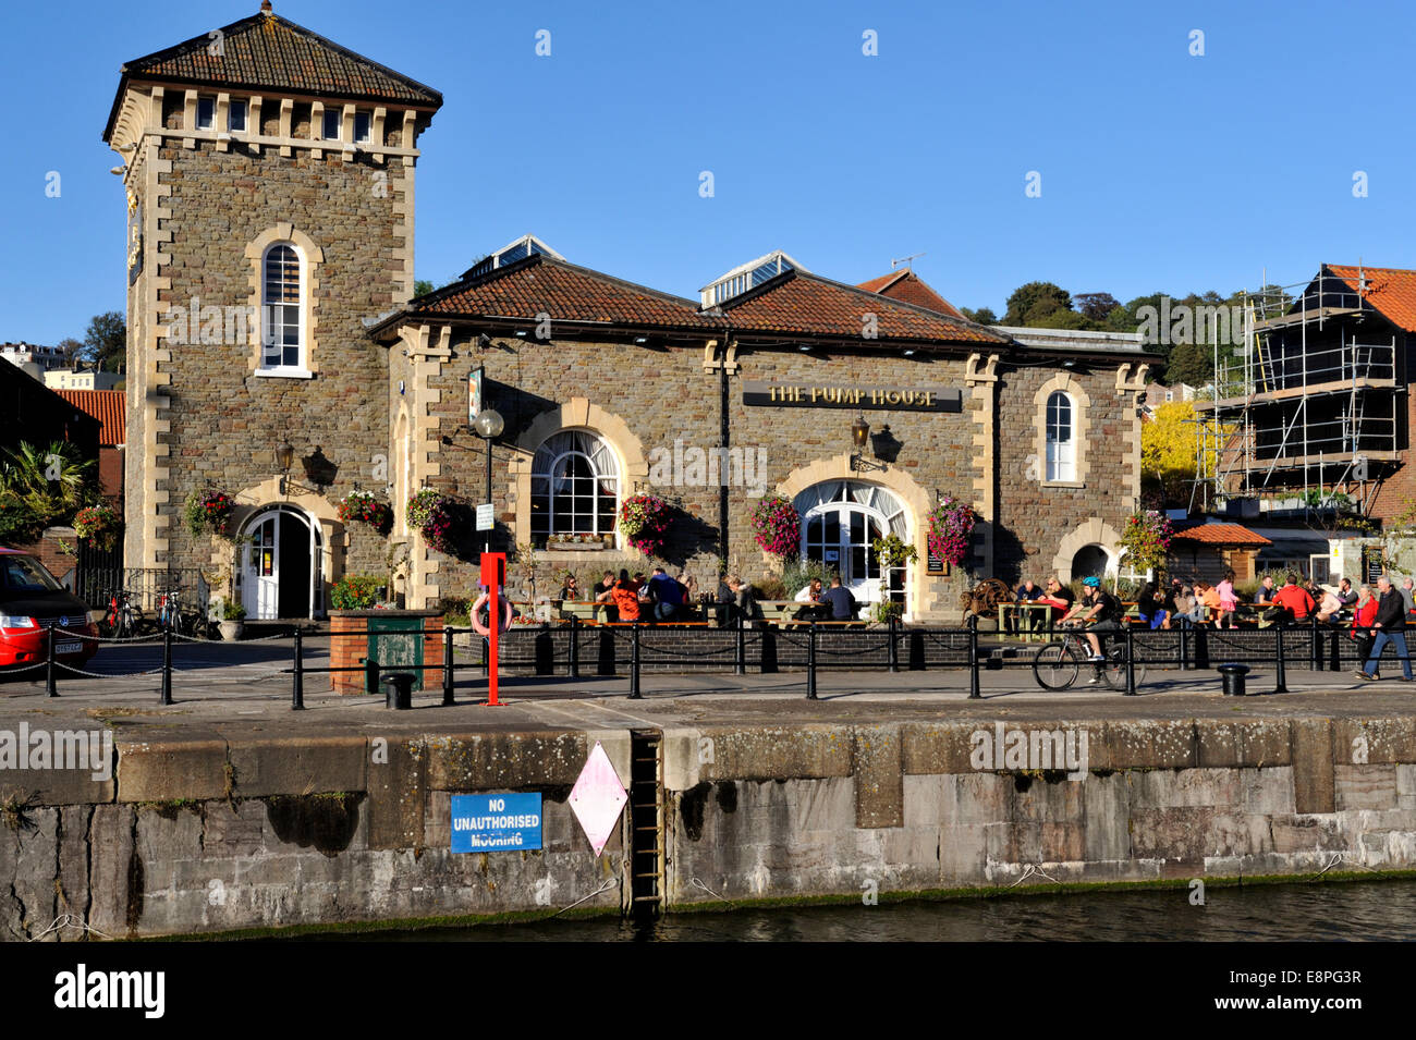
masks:
{"label": "building under scaffolding with orange roof at right edge", "polygon": [[1240,306],[1238,349],[1216,349],[1215,399],[1195,402],[1208,466],[1191,508],[1238,498],[1257,499],[1245,515],[1403,512],[1408,495],[1388,485],[1409,446],[1416,272],[1324,265],[1311,282],[1266,286]]}

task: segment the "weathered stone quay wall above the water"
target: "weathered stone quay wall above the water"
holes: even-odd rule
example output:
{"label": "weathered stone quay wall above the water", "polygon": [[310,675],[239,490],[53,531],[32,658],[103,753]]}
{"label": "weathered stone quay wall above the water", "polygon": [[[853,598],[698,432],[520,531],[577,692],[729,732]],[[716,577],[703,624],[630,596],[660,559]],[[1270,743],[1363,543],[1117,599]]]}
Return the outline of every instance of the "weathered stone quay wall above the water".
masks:
{"label": "weathered stone quay wall above the water", "polygon": [[[0,773],[0,935],[62,914],[137,937],[629,906],[627,818],[596,857],[566,802],[595,743],[627,781],[627,730],[377,733],[119,734],[112,778]],[[670,911],[1416,867],[1412,717],[758,723],[661,740]],[[545,848],[452,855],[452,794],[501,791],[544,795]]]}

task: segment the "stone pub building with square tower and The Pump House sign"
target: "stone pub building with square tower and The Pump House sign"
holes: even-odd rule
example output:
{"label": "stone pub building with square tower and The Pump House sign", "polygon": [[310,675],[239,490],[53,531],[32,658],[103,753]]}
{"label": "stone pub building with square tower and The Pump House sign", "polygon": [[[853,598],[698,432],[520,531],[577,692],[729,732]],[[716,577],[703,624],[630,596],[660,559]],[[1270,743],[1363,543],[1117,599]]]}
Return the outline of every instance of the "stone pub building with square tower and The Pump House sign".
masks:
{"label": "stone pub building with square tower and The Pump House sign", "polygon": [[[105,140],[126,166],[130,565],[224,570],[252,617],[319,617],[346,573],[392,572],[413,607],[466,596],[480,535],[435,552],[404,504],[483,502],[490,450],[491,545],[531,546],[542,594],[566,570],[647,570],[616,531],[641,491],[674,509],[663,556],[708,589],[719,562],[776,569],[750,526],[763,494],[801,514],[804,555],[867,601],[895,589],[909,620],[957,617],[981,577],[1116,567],[1138,337],[977,325],[912,272],[852,286],[783,252],[690,300],[531,235],[413,299],[442,103],[269,3],[123,67]],[[473,393],[504,419],[490,443]],[[234,541],[184,526],[204,488],[235,498]],[[340,521],[355,488],[394,507],[387,538]],[[927,562],[940,495],[978,516],[966,567]],[[869,543],[891,532],[919,563],[881,573]]]}

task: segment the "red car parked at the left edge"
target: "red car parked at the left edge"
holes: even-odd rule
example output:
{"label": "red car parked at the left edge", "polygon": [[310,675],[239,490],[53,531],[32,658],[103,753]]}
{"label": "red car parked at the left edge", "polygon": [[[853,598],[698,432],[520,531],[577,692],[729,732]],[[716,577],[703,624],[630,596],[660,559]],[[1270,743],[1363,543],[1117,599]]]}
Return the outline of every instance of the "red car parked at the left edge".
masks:
{"label": "red car parked at the left edge", "polygon": [[44,664],[51,625],[64,630],[54,637],[54,659],[84,666],[98,652],[98,642],[79,634],[98,635],[93,618],[99,613],[30,553],[0,548],[0,669]]}

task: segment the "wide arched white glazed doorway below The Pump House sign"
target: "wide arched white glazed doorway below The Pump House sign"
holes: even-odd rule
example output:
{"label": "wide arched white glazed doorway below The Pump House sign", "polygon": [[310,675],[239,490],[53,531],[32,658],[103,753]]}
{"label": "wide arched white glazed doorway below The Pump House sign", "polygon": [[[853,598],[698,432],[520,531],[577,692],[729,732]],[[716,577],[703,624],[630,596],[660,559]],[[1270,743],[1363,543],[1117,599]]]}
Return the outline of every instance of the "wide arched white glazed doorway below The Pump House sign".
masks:
{"label": "wide arched white glazed doorway below The Pump House sign", "polygon": [[906,543],[905,504],[891,491],[854,480],[813,484],[793,502],[801,515],[801,557],[841,576],[841,584],[861,603],[903,601],[903,567],[885,570],[872,543],[898,535]]}

